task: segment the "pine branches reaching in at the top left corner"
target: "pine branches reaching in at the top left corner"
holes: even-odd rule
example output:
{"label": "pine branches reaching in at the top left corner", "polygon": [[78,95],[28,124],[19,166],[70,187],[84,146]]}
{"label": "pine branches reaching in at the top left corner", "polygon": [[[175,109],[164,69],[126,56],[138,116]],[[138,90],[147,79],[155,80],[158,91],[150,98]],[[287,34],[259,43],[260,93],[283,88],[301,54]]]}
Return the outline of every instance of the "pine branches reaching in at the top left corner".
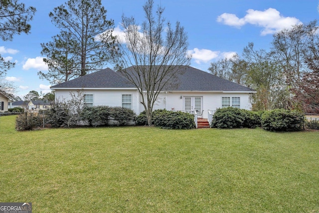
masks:
{"label": "pine branches reaching in at the top left corner", "polygon": [[[36,9],[32,6],[25,8],[18,0],[0,0],[0,38],[3,41],[12,40],[14,34],[29,33]],[[5,61],[0,55],[0,76],[14,63]]]}

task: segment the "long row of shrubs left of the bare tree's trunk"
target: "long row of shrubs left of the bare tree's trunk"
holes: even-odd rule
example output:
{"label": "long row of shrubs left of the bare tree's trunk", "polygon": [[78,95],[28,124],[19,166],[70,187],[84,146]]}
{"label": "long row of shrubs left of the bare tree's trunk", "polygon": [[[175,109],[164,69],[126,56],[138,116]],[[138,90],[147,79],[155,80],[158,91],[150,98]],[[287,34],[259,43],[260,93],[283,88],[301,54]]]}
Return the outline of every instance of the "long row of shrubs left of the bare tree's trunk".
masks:
{"label": "long row of shrubs left of the bare tree's trunk", "polygon": [[[43,113],[42,113],[43,112]],[[43,126],[59,128],[79,125],[107,125],[110,119],[117,121],[116,125],[125,125],[135,119],[133,110],[122,107],[84,107],[75,112],[65,103],[56,103],[39,113],[22,113],[16,118],[16,130],[32,130]]]}

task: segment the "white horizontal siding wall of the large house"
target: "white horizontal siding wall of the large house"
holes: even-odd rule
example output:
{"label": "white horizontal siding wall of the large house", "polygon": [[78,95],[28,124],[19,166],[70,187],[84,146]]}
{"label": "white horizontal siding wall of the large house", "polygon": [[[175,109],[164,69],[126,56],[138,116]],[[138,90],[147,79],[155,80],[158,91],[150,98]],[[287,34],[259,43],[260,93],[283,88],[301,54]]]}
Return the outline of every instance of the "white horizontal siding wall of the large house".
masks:
{"label": "white horizontal siding wall of the large house", "polygon": [[[77,90],[56,90],[56,101],[71,100],[71,94],[77,94]],[[144,111],[141,104],[141,96],[138,90],[81,90],[84,94],[93,94],[93,106],[122,106],[122,94],[132,94],[132,110],[139,115]],[[214,92],[161,92],[157,102],[154,104],[154,110],[167,109],[175,111],[185,110],[185,97],[201,97],[203,118],[208,117],[208,110],[215,112],[221,108],[222,97],[240,97],[240,108],[251,110],[249,93],[214,93]]]}

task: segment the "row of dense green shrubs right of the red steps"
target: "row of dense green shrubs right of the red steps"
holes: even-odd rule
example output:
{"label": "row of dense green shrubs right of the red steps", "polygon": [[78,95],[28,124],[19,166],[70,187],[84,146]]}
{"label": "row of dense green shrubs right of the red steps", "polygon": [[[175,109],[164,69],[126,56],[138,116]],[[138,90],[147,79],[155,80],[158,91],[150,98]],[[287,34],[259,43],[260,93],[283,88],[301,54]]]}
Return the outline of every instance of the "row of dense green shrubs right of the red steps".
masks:
{"label": "row of dense green shrubs right of the red steps", "polygon": [[275,109],[271,111],[248,111],[233,107],[217,109],[213,128],[255,128],[261,126],[268,131],[300,131],[305,115],[295,110]]}

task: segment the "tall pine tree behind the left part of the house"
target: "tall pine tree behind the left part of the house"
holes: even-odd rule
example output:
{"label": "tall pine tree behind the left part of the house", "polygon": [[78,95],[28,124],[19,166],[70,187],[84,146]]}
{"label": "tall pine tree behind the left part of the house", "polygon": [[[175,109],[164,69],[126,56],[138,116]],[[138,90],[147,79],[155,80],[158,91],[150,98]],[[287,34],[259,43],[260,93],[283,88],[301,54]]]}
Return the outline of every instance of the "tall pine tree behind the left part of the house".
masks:
{"label": "tall pine tree behind the left part of the house", "polygon": [[67,81],[101,69],[116,49],[114,21],[106,19],[101,0],[68,0],[49,13],[61,29],[53,41],[42,44],[49,73],[39,73],[50,82]]}

